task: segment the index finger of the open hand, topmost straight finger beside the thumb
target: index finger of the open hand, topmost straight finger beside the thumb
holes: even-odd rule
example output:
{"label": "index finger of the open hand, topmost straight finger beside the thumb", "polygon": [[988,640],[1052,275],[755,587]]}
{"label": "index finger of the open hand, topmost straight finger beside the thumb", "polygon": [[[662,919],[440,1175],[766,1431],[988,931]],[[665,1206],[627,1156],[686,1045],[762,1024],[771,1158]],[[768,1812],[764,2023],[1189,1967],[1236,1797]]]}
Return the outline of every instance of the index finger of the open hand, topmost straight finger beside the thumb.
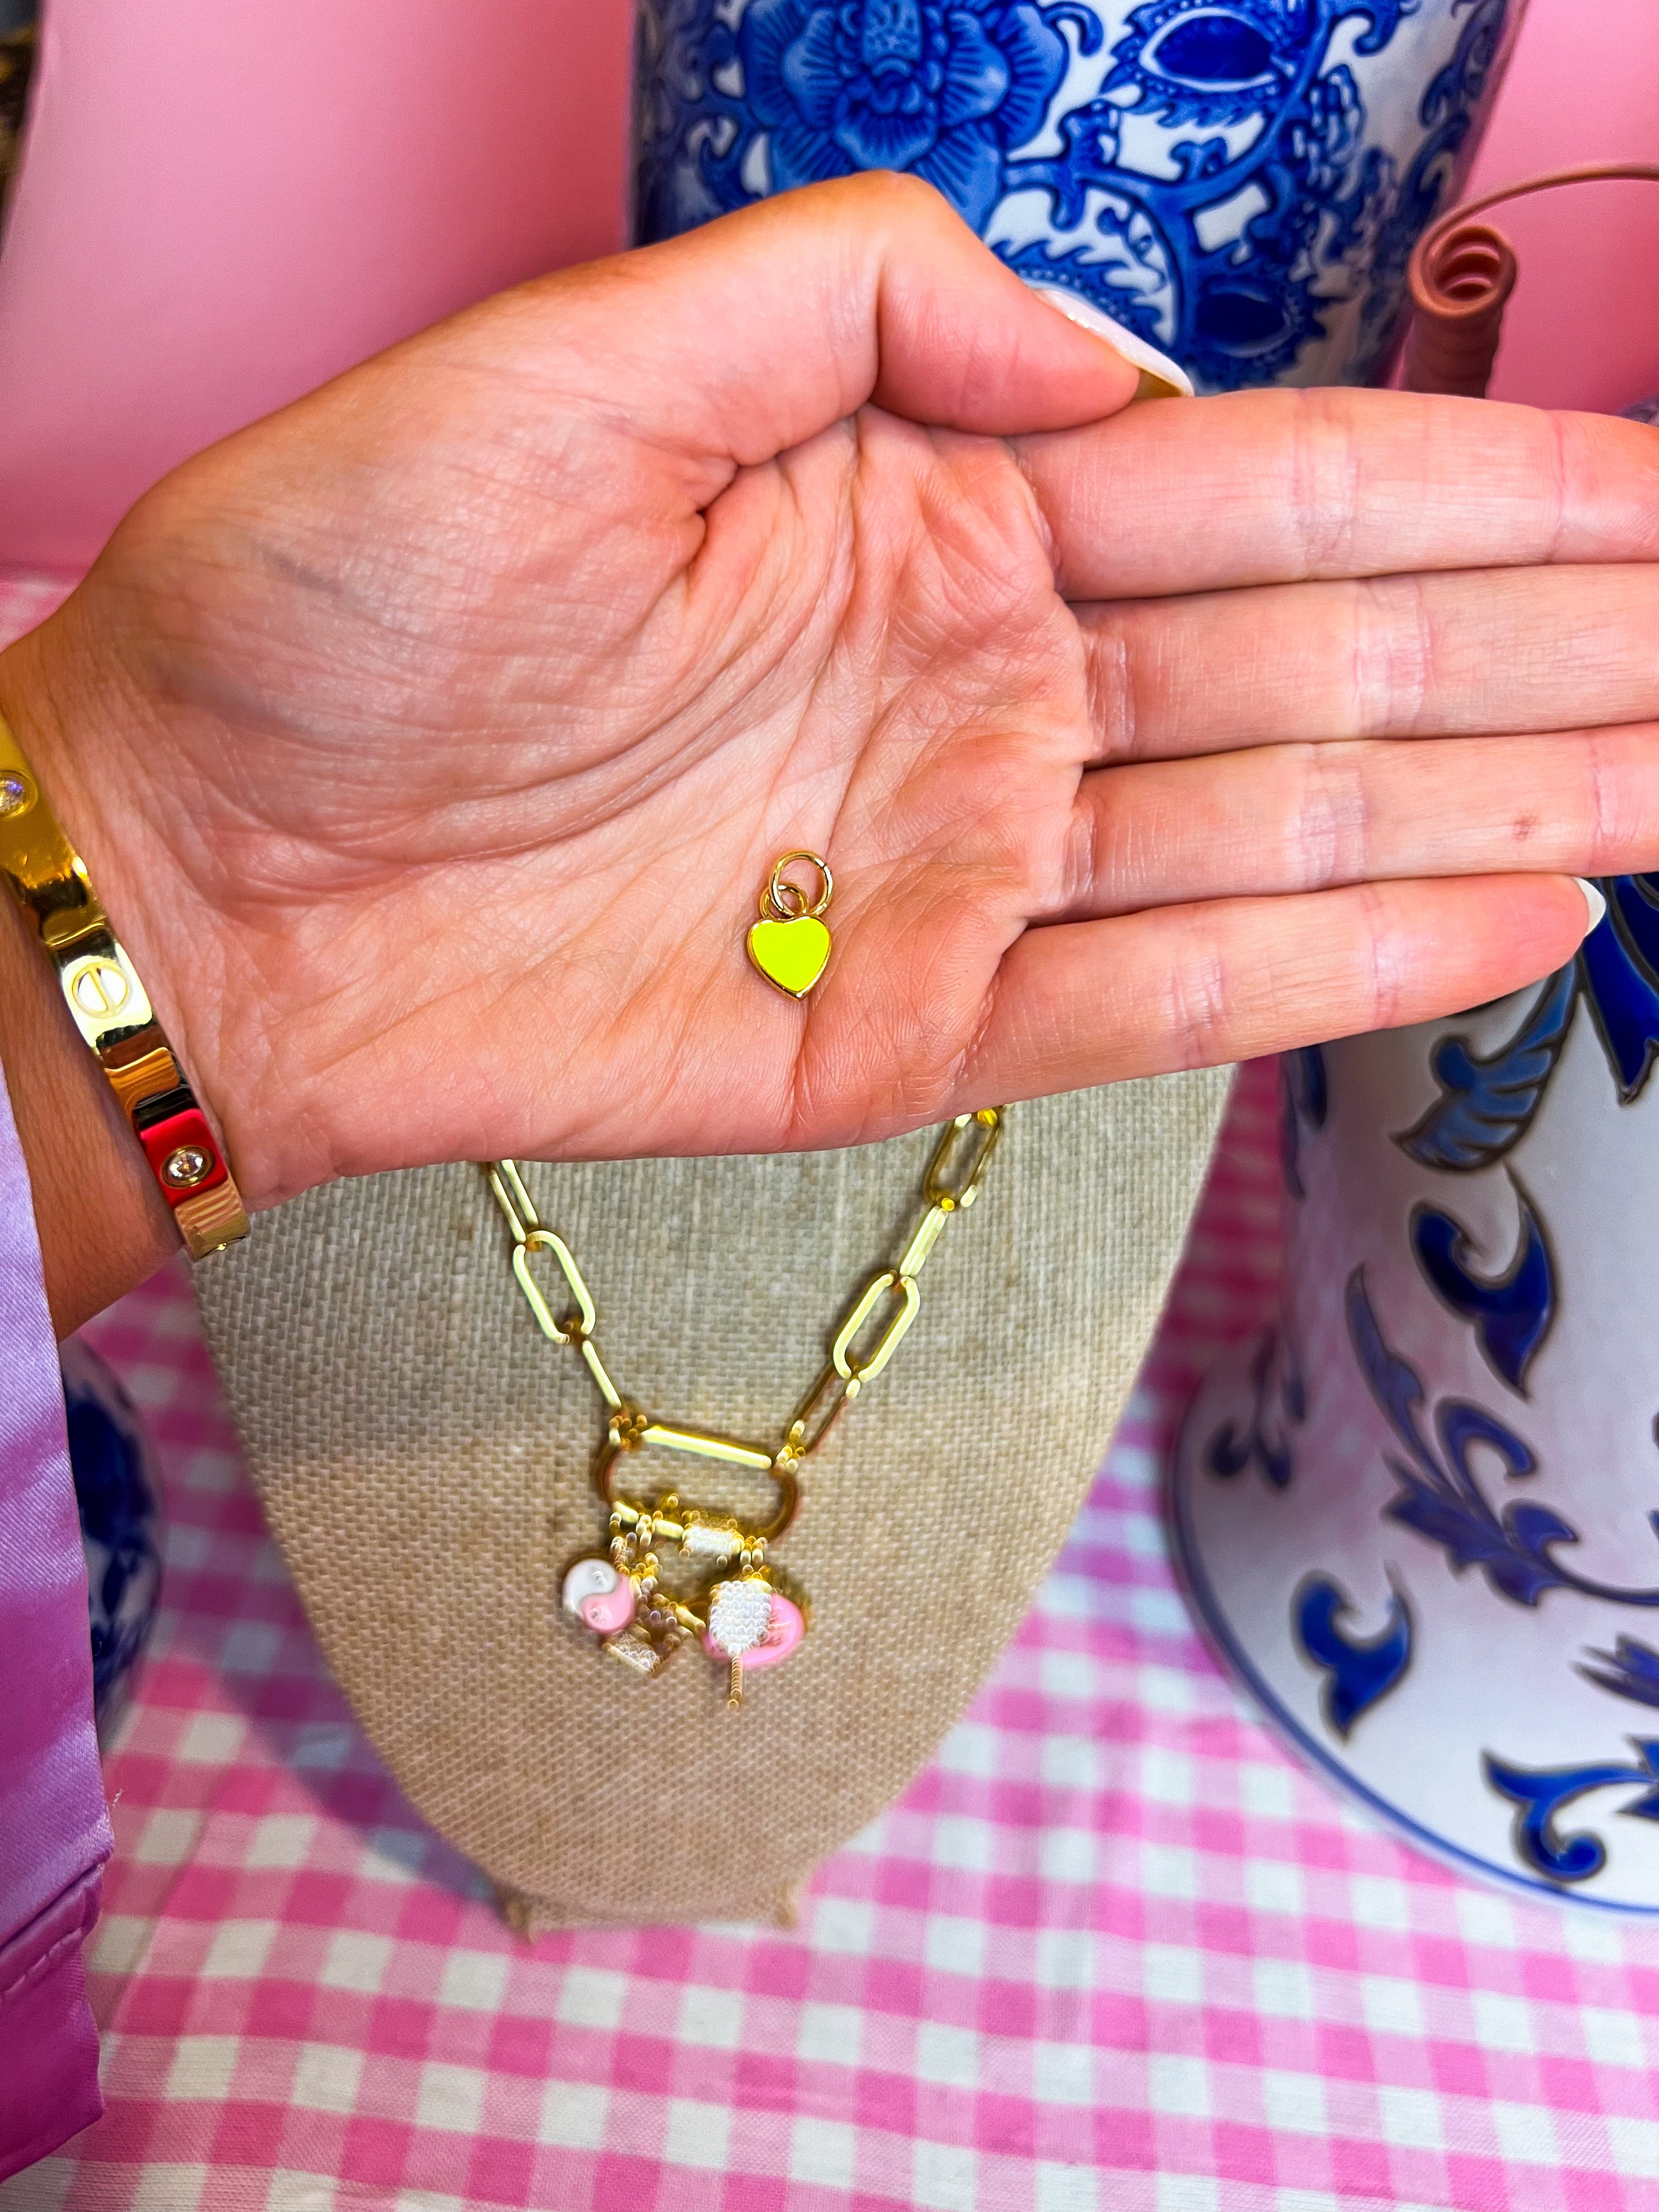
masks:
{"label": "index finger of the open hand, topmost straight finger beside the thumb", "polygon": [[1659,560],[1659,429],[1617,416],[1232,392],[1015,451],[1068,599]]}

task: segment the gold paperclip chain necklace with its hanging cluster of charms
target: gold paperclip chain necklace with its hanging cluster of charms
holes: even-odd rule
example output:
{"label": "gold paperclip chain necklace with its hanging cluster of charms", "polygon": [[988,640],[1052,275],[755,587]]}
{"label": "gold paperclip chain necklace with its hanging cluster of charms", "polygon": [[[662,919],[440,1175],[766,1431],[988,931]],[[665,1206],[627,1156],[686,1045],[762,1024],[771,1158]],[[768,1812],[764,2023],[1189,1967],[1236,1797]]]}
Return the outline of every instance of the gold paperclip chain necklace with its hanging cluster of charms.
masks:
{"label": "gold paperclip chain necklace with its hanging cluster of charms", "polygon": [[[728,1705],[743,1701],[745,1670],[779,1666],[801,1644],[810,1624],[805,1593],[768,1564],[801,1504],[799,1469],[834,1429],[841,1409],[874,1383],[898,1352],[922,1303],[920,1272],[956,1214],[980,1194],[984,1170],[1002,1137],[1004,1106],[960,1113],[940,1133],[922,1179],[925,1212],[905,1256],[869,1276],[836,1329],[830,1363],[805,1394],[776,1451],[732,1436],[681,1429],[653,1420],[611,1380],[593,1338],[597,1310],[566,1241],[546,1228],[511,1159],[484,1161],[489,1188],[513,1232],[513,1276],[535,1323],[553,1345],[582,1354],[606,1405],[606,1433],[593,1462],[593,1486],[611,1515],[608,1548],[575,1559],[562,1584],[564,1610],[599,1637],[602,1650],[635,1674],[659,1674],[672,1652],[697,1637],[710,1659],[728,1668]],[[531,1263],[551,1252],[575,1305],[555,1316]],[[885,1314],[878,1307],[885,1303]],[[874,1340],[860,1347],[860,1338]],[[617,1471],[635,1451],[679,1451],[697,1460],[748,1467],[776,1484],[779,1504],[763,1528],[745,1528],[726,1513],[703,1513],[668,1489],[655,1502],[626,1498]],[[666,1588],[659,1544],[672,1544],[706,1577],[706,1588]],[[695,1599],[695,1601],[692,1601]]]}

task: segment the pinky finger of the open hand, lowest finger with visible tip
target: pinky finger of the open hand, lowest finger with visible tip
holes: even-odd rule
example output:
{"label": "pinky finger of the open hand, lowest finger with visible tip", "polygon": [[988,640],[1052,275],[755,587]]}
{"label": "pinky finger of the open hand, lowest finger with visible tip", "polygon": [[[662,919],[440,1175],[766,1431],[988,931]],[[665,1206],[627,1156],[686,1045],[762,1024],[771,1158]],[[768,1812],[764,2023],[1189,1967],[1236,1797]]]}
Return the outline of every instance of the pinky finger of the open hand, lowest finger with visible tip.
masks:
{"label": "pinky finger of the open hand, lowest finger with visible tip", "polygon": [[962,1104],[1429,1022],[1537,982],[1588,927],[1571,876],[1453,876],[1026,929]]}

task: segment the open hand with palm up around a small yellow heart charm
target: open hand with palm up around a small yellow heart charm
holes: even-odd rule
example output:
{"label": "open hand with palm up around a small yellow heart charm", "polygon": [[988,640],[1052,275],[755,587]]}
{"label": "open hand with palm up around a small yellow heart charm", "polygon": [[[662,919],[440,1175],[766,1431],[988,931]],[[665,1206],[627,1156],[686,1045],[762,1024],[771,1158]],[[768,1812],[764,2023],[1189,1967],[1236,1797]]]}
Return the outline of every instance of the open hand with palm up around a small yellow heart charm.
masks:
{"label": "open hand with palm up around a small yellow heart charm", "polygon": [[[1568,876],[1659,863],[1659,438],[1133,385],[869,177],[157,487],[0,703],[250,1203],[874,1139],[1566,960]],[[743,956],[796,845],[805,1004]]]}

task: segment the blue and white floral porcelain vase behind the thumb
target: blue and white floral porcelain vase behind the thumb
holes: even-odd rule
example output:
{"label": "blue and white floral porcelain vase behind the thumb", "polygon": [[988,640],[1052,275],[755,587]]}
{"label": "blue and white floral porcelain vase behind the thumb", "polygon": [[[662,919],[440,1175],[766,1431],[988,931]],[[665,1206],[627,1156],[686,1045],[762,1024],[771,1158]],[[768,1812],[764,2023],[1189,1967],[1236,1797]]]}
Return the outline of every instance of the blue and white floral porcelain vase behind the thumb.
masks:
{"label": "blue and white floral porcelain vase behind the thumb", "polygon": [[860,168],[1201,392],[1369,383],[1524,0],[641,0],[641,241]]}

